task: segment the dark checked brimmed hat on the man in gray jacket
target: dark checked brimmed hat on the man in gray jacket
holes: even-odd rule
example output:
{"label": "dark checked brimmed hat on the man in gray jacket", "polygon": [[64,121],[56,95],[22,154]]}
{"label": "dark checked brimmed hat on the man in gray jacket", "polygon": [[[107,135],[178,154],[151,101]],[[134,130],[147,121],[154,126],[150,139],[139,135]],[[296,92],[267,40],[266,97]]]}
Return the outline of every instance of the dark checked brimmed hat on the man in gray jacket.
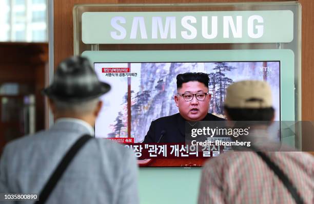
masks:
{"label": "dark checked brimmed hat on the man in gray jacket", "polygon": [[53,83],[43,89],[43,94],[55,100],[82,102],[109,90],[110,85],[99,81],[87,58],[71,57],[58,65]]}

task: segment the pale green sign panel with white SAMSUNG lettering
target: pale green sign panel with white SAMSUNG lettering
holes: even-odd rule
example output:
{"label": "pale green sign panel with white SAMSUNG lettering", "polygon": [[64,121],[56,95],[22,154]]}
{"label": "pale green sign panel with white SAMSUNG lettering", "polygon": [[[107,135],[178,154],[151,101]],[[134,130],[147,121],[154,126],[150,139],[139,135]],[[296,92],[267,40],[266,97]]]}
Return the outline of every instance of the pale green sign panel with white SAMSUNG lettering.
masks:
{"label": "pale green sign panel with white SAMSUNG lettering", "polygon": [[293,13],[272,11],[84,12],[85,44],[287,43]]}

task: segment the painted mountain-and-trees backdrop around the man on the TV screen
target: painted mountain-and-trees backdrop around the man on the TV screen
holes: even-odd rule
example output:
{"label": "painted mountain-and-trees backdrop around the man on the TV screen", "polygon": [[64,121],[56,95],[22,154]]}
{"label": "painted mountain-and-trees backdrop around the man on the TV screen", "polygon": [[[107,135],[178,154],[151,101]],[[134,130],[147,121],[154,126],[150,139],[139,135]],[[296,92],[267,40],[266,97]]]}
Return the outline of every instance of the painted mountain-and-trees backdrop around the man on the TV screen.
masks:
{"label": "painted mountain-and-trees backdrop around the man on the TV screen", "polygon": [[[280,62],[158,62],[94,63],[101,81],[112,90],[101,97],[104,106],[95,123],[95,137],[132,138],[141,143],[151,121],[179,113],[174,103],[176,76],[185,72],[204,72],[209,76],[209,112],[225,118],[225,91],[241,80],[264,80],[271,86],[275,119],[280,120]],[[131,96],[130,115],[127,98]],[[128,117],[131,130],[128,135]],[[129,140],[122,142],[129,143]]]}

